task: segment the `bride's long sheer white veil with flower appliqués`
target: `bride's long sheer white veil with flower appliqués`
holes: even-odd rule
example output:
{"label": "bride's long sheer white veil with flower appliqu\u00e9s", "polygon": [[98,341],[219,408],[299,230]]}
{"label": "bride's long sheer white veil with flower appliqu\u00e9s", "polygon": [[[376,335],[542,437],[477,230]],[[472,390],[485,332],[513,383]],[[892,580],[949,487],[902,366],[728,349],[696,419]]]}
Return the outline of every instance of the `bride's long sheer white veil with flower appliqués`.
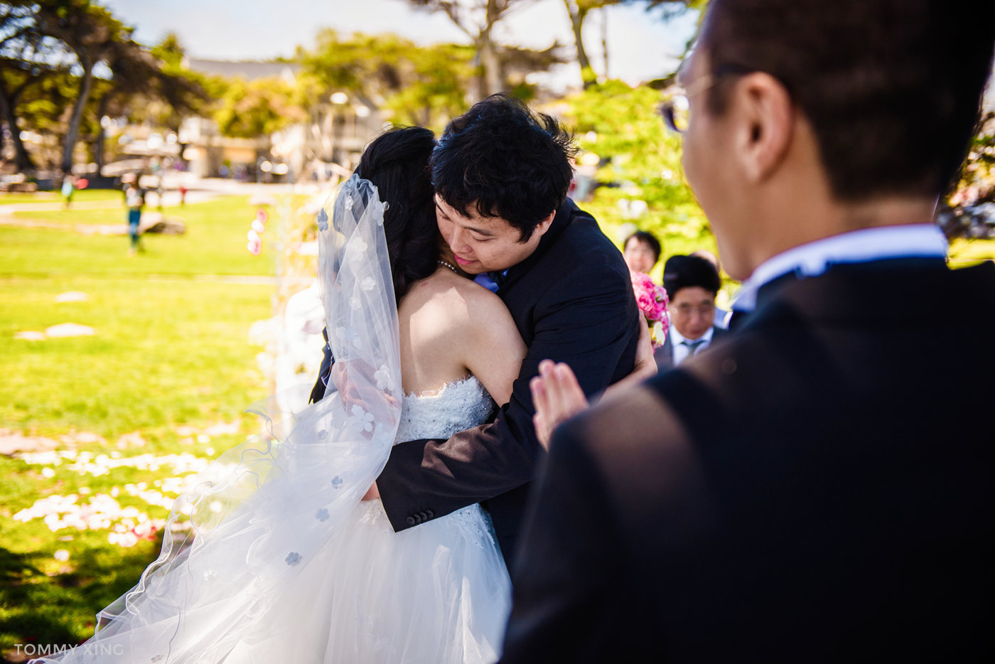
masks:
{"label": "bride's long sheer white veil with flower appliqu\u00e9s", "polygon": [[[333,209],[328,214],[326,208]],[[318,280],[340,385],[215,460],[173,505],[162,551],[98,615],[95,636],[39,662],[220,662],[266,616],[380,474],[397,432],[397,308],[376,187],[353,175],[318,213]],[[173,541],[189,519],[185,541]]]}

